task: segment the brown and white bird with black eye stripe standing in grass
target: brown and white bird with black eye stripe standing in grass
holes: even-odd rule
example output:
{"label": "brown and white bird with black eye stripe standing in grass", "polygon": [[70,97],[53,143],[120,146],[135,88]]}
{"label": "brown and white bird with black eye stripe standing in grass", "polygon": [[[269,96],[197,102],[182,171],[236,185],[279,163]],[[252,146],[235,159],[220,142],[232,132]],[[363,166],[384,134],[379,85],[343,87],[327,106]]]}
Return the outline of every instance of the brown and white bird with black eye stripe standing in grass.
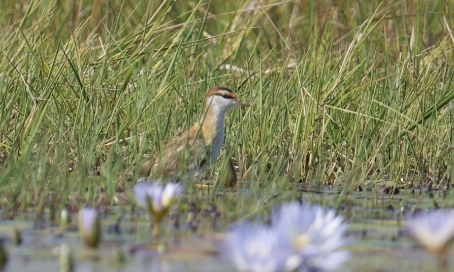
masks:
{"label": "brown and white bird with black eye stripe standing in grass", "polygon": [[213,163],[224,142],[224,116],[233,107],[249,107],[231,89],[223,86],[207,91],[201,117],[164,143],[139,171],[146,178],[198,176]]}

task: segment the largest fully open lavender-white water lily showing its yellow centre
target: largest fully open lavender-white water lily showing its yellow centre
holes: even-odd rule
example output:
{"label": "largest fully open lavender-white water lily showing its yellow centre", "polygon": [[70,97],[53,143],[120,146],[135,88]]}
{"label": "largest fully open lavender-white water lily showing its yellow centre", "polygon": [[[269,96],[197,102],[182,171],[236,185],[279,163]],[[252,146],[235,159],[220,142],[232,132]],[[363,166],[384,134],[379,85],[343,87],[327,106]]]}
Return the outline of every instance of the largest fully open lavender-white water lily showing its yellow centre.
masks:
{"label": "largest fully open lavender-white water lily showing its yellow centre", "polygon": [[272,225],[291,242],[300,257],[299,271],[326,271],[350,259],[350,252],[339,250],[349,244],[348,224],[334,210],[298,202],[285,203],[272,213]]}

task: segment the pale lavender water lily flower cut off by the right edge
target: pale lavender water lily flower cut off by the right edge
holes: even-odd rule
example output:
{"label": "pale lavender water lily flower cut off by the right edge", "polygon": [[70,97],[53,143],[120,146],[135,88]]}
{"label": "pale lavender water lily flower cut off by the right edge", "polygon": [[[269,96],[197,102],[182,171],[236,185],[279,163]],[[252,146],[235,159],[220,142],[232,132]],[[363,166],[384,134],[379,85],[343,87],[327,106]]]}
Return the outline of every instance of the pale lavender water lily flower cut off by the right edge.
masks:
{"label": "pale lavender water lily flower cut off by the right edge", "polygon": [[454,240],[454,210],[419,213],[406,222],[406,230],[428,252],[442,254]]}

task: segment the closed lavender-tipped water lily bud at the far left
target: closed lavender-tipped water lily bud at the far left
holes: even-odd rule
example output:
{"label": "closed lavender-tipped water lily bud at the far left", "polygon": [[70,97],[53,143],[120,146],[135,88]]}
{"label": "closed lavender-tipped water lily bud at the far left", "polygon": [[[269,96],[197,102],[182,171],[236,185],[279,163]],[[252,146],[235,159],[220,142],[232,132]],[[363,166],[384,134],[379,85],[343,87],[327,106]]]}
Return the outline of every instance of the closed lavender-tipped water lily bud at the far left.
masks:
{"label": "closed lavender-tipped water lily bud at the far left", "polygon": [[101,220],[93,208],[82,208],[78,216],[79,234],[85,245],[95,248],[101,241]]}

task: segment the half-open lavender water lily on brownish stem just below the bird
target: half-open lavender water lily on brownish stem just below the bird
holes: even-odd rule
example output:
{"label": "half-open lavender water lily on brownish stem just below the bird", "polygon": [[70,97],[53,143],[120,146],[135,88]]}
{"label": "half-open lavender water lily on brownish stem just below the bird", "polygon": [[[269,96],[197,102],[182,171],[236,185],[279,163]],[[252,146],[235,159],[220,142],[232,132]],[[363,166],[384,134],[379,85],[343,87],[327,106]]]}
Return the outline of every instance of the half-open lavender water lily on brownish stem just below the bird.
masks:
{"label": "half-open lavender water lily on brownish stem just below the bird", "polygon": [[180,183],[169,182],[160,185],[157,182],[138,183],[134,187],[137,203],[147,209],[154,220],[153,236],[159,236],[159,225],[170,206],[183,194],[184,187]]}

